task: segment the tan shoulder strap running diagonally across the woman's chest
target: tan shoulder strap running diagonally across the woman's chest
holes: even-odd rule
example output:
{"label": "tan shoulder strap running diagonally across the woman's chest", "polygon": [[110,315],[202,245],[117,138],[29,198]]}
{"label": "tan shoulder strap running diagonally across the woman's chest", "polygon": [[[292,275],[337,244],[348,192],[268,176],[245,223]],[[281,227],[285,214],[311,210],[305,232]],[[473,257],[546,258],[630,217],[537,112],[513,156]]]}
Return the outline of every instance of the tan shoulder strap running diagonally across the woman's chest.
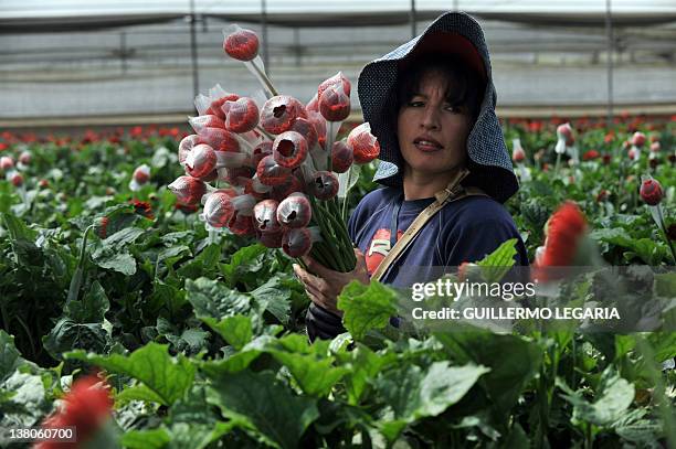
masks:
{"label": "tan shoulder strap running diagonally across the woman's chest", "polygon": [[473,195],[483,195],[487,196],[480,189],[478,188],[463,188],[460,182],[467,175],[469,172],[467,170],[463,170],[458,172],[455,178],[448,183],[446,189],[436,192],[434,194],[435,200],[432,204],[425,207],[416,217],[413,220],[413,223],[409,226],[409,228],[403,233],[401,238],[397,240],[397,244],[390,248],[388,255],[382,259],[378,268],[371,275],[371,279],[380,280],[380,278],[387,272],[387,270],[397,261],[397,259],[403,254],[403,252],[410,246],[415,236],[419,234],[420,229],[423,228],[425,223],[430,221],[442,207],[450,202],[461,200],[465,196]]}

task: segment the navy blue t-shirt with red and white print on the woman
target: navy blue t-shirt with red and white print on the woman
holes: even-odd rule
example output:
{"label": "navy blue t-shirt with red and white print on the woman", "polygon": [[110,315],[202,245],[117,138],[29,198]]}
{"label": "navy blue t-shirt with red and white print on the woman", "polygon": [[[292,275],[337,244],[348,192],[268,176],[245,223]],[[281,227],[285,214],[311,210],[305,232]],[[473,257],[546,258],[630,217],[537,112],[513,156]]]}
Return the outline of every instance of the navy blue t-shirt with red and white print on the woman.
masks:
{"label": "navy blue t-shirt with red and white print on the woman", "polygon": [[[367,194],[348,222],[352,242],[367,259],[369,274],[390,249],[392,210],[401,189],[384,188]],[[432,202],[403,201],[398,215],[398,237]],[[383,284],[410,287],[441,277],[448,267],[478,261],[505,240],[517,238],[516,265],[528,265],[524,242],[507,210],[488,196],[466,196],[447,203],[418,233],[413,243],[381,278]]]}

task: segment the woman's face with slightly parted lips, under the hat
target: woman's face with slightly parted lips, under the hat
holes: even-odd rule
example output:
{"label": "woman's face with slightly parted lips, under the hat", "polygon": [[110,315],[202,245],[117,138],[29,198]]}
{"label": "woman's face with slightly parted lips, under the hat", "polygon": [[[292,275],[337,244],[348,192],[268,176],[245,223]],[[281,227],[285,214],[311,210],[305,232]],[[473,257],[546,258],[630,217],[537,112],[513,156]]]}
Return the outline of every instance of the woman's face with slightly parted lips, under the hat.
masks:
{"label": "woman's face with slightly parted lips, under the hat", "polygon": [[427,72],[420,82],[420,92],[399,110],[397,129],[406,163],[404,179],[450,177],[465,164],[472,117],[466,106],[446,101],[446,92],[453,87],[448,83],[443,74]]}

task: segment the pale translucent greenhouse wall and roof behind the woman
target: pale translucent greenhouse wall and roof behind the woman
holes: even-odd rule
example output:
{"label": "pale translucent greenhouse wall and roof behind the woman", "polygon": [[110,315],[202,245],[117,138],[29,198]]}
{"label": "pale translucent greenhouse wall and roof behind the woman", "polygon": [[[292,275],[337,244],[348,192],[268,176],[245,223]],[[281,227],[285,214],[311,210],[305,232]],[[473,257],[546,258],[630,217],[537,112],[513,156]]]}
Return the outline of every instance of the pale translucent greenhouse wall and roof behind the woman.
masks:
{"label": "pale translucent greenhouse wall and roof behind the woman", "polygon": [[609,99],[637,114],[674,110],[676,6],[608,3],[610,14],[603,0],[6,0],[0,119],[8,126],[129,115],[182,121],[196,93],[215,83],[253,94],[247,72],[219,45],[231,23],[265,29],[270,75],[282,90],[308,100],[305,86],[338,71],[356,82],[368,61],[422,31],[446,4],[479,18],[498,107],[507,115],[599,115]]}

